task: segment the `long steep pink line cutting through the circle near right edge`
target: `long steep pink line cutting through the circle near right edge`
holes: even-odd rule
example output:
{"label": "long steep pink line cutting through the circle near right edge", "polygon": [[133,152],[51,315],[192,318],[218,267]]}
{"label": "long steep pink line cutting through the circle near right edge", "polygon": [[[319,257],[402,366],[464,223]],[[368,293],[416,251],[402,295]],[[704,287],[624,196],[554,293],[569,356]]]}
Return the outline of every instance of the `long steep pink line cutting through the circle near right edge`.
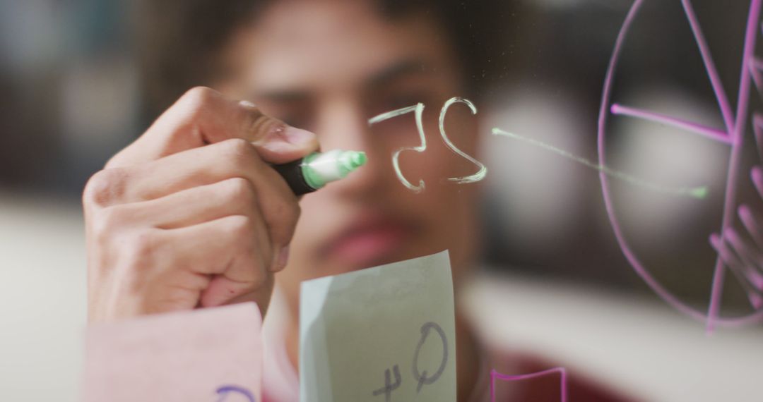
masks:
{"label": "long steep pink line cutting through the circle near right edge", "polygon": [[[736,104],[736,120],[734,121],[734,131],[732,138],[734,144],[731,147],[731,158],[729,158],[729,172],[726,177],[726,195],[723,200],[723,222],[721,223],[721,235],[734,223],[734,205],[736,203],[736,181],[741,168],[739,159],[742,157],[742,136],[744,136],[745,126],[747,125],[747,107],[750,97],[751,74],[749,72],[749,61],[754,57],[755,51],[755,33],[760,18],[761,2],[752,0],[750,2],[750,12],[747,18],[747,31],[745,33],[745,50],[742,54],[742,71],[739,73],[739,99]],[[713,284],[710,291],[710,306],[707,309],[707,333],[712,333],[715,329],[715,321],[720,312],[720,296],[723,292],[723,279],[725,274],[723,262],[720,256],[716,259],[715,272],[713,273]]]}

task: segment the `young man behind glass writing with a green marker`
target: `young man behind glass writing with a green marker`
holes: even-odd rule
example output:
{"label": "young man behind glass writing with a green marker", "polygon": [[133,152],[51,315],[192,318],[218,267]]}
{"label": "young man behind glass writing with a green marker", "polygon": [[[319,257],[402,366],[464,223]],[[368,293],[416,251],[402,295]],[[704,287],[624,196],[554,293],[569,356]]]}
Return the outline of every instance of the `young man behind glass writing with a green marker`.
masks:
{"label": "young man behind glass writing with a green marker", "polygon": [[[245,301],[264,313],[275,282],[285,307],[282,336],[266,358],[291,364],[280,374],[266,366],[264,387],[272,400],[293,400],[301,281],[448,249],[458,302],[479,244],[478,184],[443,180],[472,174],[475,165],[434,136],[443,103],[468,94],[468,54],[453,45],[459,38],[440,9],[452,5],[441,2],[189,4],[219,11],[200,21],[230,19],[208,21],[216,36],[203,65],[175,59],[153,71],[182,82],[184,67],[195,69],[198,81],[189,81],[217,91],[186,92],[85,188],[90,318]],[[181,49],[189,46],[177,39]],[[172,54],[172,46],[165,49]],[[177,75],[162,69],[172,63]],[[421,193],[404,187],[391,164],[396,149],[418,145],[414,116],[368,123],[418,102],[426,106],[430,141],[400,163],[408,180],[426,183]],[[481,130],[466,107],[450,109],[446,128],[458,148],[475,155]],[[319,144],[366,152],[369,163],[298,200],[268,164],[301,158]],[[460,312],[456,327],[459,400],[485,400],[489,369],[506,363],[488,358]],[[517,362],[512,368],[523,369]],[[558,381],[536,385],[540,394],[558,394]]]}

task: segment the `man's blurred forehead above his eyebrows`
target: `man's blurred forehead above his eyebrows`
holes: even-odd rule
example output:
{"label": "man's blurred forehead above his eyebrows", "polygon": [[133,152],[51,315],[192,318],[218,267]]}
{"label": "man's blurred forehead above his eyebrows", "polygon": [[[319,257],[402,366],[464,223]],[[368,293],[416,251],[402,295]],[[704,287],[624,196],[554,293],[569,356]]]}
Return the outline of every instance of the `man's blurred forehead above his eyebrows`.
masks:
{"label": "man's blurred forehead above his eyebrows", "polygon": [[[259,20],[261,24],[252,32],[247,72],[253,88],[268,92],[370,85],[442,62],[438,45],[443,41],[426,21],[390,21],[368,5],[332,8],[346,2],[316,3],[286,2],[284,10],[266,13]],[[298,5],[304,7],[301,12],[285,14]],[[305,12],[311,10],[316,12]]]}

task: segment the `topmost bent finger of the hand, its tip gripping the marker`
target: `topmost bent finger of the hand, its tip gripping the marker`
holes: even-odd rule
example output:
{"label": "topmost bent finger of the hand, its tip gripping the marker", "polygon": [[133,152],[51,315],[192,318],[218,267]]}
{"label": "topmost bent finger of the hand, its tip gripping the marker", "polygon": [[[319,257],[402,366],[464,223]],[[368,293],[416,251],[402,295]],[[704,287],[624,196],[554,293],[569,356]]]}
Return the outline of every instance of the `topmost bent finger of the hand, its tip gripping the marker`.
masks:
{"label": "topmost bent finger of the hand, its tip gripping the marker", "polygon": [[314,134],[262,114],[253,104],[226,99],[210,88],[193,88],[137,139],[111,158],[107,168],[145,163],[191,148],[244,139],[264,160],[285,163],[317,149]]}

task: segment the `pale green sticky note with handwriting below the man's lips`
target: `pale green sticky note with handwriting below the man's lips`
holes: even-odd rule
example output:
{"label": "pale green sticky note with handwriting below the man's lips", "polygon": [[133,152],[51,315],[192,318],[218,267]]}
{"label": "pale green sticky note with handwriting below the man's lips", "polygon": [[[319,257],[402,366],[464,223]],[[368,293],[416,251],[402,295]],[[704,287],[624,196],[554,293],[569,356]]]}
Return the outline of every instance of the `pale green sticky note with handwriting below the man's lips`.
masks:
{"label": "pale green sticky note with handwriting below the man's lips", "polygon": [[448,252],[302,283],[300,400],[456,400]]}

